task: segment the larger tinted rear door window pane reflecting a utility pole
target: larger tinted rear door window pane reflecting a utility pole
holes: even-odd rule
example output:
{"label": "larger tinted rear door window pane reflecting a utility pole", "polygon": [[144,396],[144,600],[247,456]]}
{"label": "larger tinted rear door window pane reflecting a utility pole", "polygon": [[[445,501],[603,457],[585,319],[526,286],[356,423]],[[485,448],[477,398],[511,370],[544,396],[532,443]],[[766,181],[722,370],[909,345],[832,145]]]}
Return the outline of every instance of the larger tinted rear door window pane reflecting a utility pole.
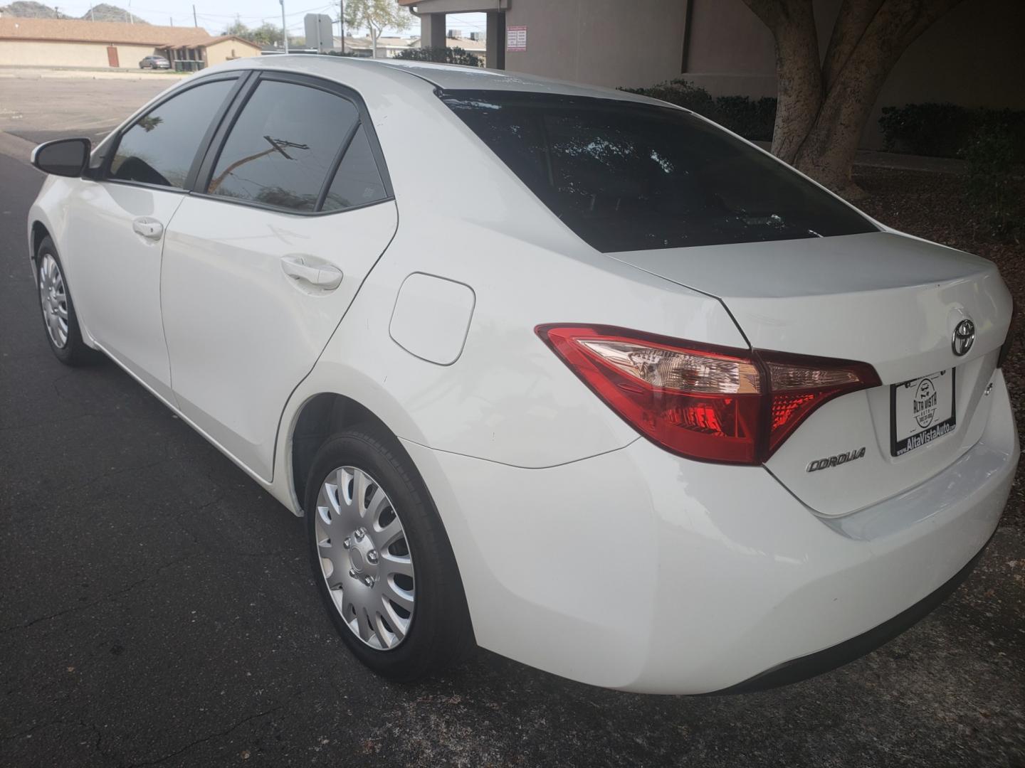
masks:
{"label": "larger tinted rear door window pane reflecting a utility pole", "polygon": [[314,211],[356,105],[319,88],[261,82],[236,121],[207,191]]}

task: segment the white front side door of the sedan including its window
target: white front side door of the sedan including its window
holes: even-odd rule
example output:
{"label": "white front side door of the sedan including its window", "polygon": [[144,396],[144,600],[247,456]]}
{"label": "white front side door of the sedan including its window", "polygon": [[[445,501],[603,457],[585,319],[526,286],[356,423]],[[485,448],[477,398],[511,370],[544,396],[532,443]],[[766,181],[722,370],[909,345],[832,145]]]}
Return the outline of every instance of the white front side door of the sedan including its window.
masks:
{"label": "white front side door of the sedan including its window", "polygon": [[237,76],[200,81],[133,121],[111,144],[97,180],[83,181],[66,209],[61,248],[85,328],[165,399],[171,394],[160,313],[164,230],[237,83]]}

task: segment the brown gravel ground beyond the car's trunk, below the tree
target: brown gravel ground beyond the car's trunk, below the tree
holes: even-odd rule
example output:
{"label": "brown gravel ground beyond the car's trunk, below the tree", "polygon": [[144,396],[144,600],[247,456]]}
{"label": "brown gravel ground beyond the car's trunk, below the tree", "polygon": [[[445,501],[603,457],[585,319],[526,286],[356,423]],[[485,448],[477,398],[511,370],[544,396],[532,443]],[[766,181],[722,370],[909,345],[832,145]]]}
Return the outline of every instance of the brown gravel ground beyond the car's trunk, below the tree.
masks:
{"label": "brown gravel ground beyond the car's trunk, below the tree", "polygon": [[[871,198],[861,203],[866,213],[889,226],[937,243],[978,254],[1000,268],[1019,310],[1025,308],[1025,243],[994,237],[985,226],[985,210],[966,194],[966,179],[946,173],[920,173],[859,168],[855,180]],[[1018,180],[1019,201],[1025,201],[1025,180]],[[1019,215],[1025,217],[1025,202]],[[1020,313],[1020,312],[1019,312]],[[1014,329],[1015,344],[1003,375],[1015,408],[1019,436],[1025,421],[1025,324]],[[1025,527],[1025,462],[1011,489],[1003,525]]]}

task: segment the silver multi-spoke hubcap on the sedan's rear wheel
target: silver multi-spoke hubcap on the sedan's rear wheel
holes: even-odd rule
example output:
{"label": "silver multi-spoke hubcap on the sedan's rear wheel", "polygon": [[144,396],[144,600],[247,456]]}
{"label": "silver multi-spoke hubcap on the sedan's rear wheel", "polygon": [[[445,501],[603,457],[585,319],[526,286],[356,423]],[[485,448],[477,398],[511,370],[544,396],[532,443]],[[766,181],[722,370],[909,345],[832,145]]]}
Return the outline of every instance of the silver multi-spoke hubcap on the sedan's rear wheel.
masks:
{"label": "silver multi-spoke hubcap on the sedan's rear wheel", "polygon": [[334,605],[360,640],[392,650],[413,621],[413,560],[399,513],[362,469],[329,473],[314,520],[321,571]]}

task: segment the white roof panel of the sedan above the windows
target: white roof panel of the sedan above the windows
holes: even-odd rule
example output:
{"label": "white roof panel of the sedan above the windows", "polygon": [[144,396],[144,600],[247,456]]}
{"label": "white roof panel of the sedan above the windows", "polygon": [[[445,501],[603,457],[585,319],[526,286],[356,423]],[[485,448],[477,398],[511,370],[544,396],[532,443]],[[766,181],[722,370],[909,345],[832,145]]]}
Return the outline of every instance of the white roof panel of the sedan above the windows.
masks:
{"label": "white roof panel of the sedan above the windows", "polygon": [[623,101],[663,103],[636,93],[602,88],[600,86],[569,83],[561,80],[504,70],[486,70],[459,65],[434,63],[396,58],[360,58],[357,56],[329,56],[314,54],[279,54],[252,56],[229,61],[227,65],[206,70],[260,69],[296,72],[322,77],[346,84],[347,77],[359,74],[379,75],[400,87],[429,85],[443,90],[502,90],[533,93],[557,93],[594,98],[614,98]]}

